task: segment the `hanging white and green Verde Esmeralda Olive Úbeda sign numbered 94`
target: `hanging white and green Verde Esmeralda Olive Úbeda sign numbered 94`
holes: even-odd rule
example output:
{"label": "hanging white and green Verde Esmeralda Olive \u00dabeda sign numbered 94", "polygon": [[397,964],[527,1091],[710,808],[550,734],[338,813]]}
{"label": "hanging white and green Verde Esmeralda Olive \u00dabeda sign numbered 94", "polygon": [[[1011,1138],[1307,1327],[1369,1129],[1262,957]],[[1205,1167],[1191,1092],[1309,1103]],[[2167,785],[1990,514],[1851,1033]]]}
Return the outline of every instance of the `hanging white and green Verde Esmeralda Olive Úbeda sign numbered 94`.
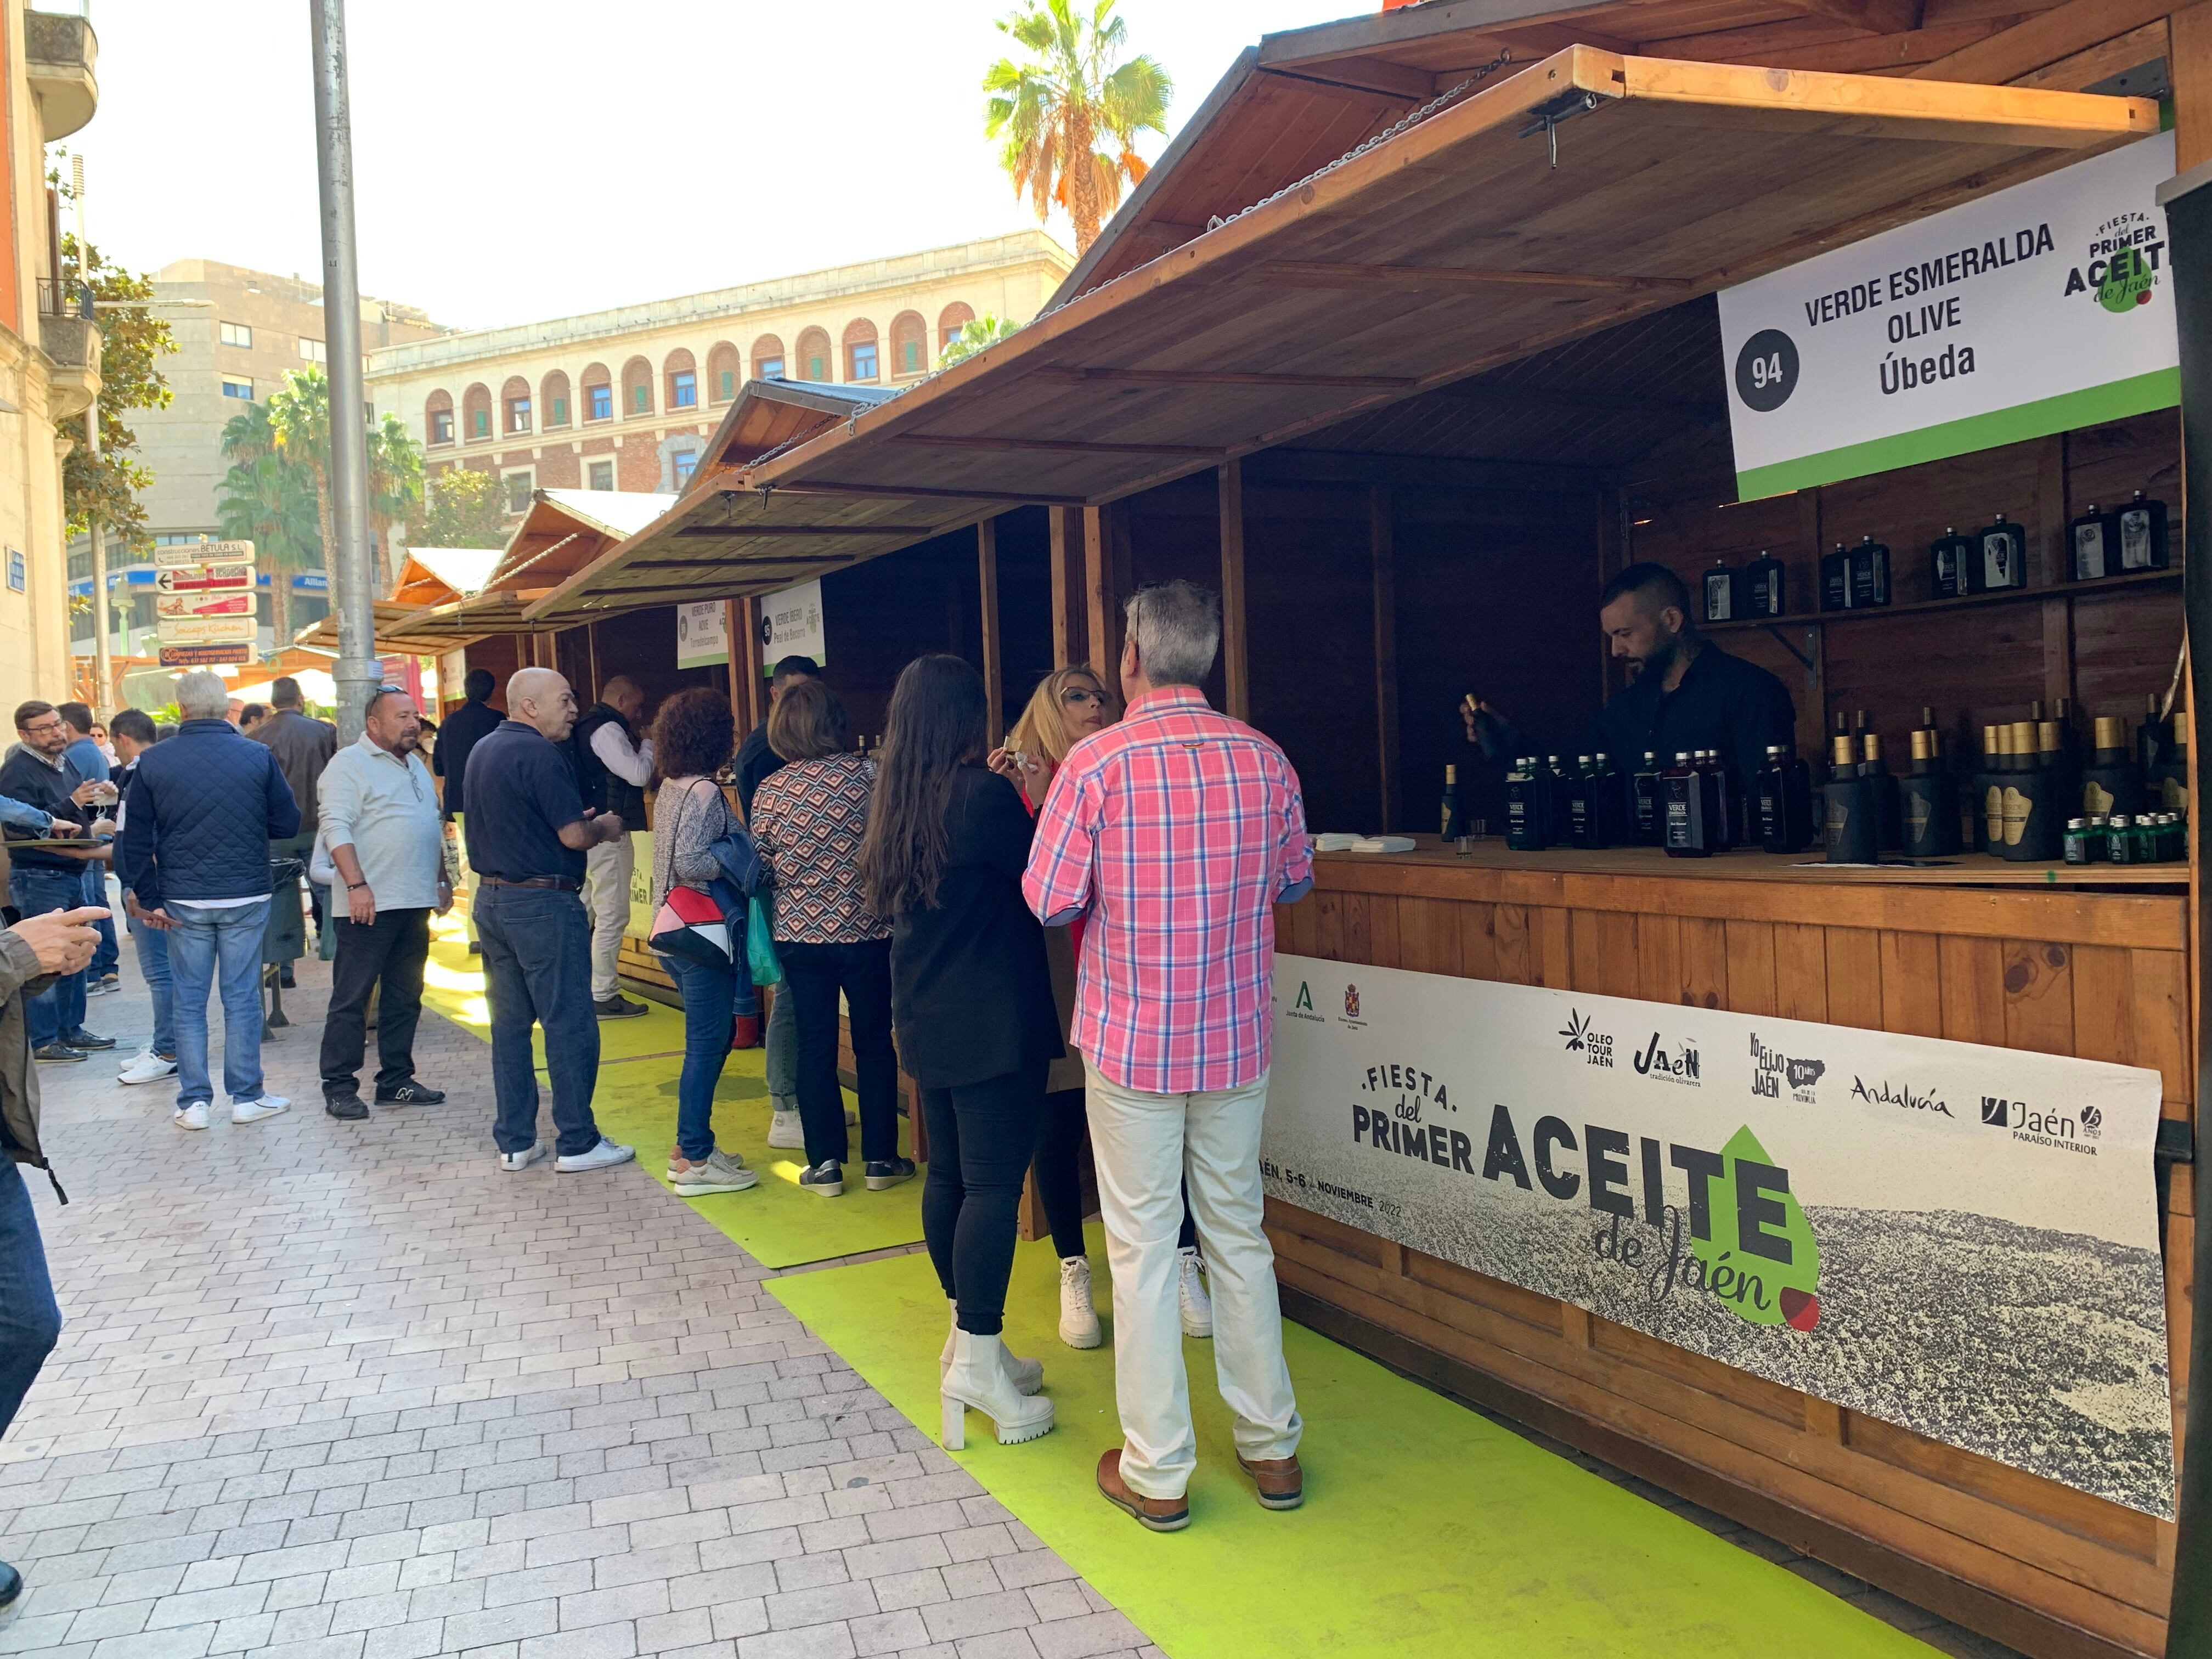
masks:
{"label": "hanging white and green Verde Esmeralda Olive \u00dabeda sign numbered 94", "polygon": [[2159,133],[1723,290],[1739,493],[2177,405],[2172,173]]}

